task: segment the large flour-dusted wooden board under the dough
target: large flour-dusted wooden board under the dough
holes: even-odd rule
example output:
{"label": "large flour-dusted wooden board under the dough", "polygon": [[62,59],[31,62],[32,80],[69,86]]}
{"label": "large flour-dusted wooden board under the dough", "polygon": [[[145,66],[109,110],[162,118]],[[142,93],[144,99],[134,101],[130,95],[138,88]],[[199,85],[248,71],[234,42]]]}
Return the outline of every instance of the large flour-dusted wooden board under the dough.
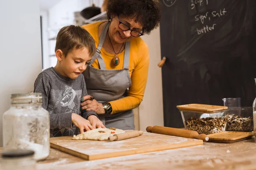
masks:
{"label": "large flour-dusted wooden board under the dough", "polygon": [[52,148],[86,160],[191,147],[202,140],[144,132],[142,136],[121,141],[72,140],[72,136],[50,138]]}

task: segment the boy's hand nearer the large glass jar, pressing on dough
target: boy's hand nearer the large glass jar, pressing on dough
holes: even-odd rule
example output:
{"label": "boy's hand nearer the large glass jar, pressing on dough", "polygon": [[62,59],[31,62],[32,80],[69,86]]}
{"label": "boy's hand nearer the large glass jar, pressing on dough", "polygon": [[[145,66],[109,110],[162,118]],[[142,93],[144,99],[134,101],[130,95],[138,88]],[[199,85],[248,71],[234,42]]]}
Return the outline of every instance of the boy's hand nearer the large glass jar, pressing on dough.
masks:
{"label": "boy's hand nearer the large glass jar, pressing on dough", "polygon": [[84,119],[83,117],[79,116],[76,113],[72,113],[72,122],[76,127],[80,129],[80,133],[95,129],[95,127],[90,125],[90,122],[88,120]]}

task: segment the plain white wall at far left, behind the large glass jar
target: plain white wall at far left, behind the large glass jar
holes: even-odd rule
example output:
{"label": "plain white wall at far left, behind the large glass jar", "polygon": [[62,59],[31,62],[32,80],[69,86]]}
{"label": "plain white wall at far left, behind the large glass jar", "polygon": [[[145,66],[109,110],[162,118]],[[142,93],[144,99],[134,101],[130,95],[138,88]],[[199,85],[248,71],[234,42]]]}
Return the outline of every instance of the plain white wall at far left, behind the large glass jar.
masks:
{"label": "plain white wall at far left, behind the large glass jar", "polygon": [[33,91],[42,70],[38,0],[0,0],[0,23],[1,147],[2,116],[10,107],[11,94]]}

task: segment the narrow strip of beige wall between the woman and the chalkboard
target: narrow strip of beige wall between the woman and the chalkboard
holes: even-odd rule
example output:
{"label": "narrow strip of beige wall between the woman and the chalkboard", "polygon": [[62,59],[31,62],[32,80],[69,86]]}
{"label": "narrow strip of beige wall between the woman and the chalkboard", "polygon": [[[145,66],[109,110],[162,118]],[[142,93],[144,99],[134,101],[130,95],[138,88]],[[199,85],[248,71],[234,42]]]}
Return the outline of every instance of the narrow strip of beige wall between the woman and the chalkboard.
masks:
{"label": "narrow strip of beige wall between the woman and the chalkboard", "polygon": [[163,126],[163,88],[162,71],[157,66],[161,60],[160,28],[143,35],[142,39],[149,48],[148,81],[143,101],[139,106],[140,130],[145,131],[148,126]]}

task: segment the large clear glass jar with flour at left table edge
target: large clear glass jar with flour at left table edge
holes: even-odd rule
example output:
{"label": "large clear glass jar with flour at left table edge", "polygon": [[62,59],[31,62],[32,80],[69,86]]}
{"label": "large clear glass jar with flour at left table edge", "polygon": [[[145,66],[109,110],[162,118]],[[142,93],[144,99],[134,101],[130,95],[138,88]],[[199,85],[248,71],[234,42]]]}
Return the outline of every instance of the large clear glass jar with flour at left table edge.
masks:
{"label": "large clear glass jar with flour at left table edge", "polygon": [[35,160],[49,156],[49,113],[39,93],[12,94],[3,114],[3,150],[33,150]]}

